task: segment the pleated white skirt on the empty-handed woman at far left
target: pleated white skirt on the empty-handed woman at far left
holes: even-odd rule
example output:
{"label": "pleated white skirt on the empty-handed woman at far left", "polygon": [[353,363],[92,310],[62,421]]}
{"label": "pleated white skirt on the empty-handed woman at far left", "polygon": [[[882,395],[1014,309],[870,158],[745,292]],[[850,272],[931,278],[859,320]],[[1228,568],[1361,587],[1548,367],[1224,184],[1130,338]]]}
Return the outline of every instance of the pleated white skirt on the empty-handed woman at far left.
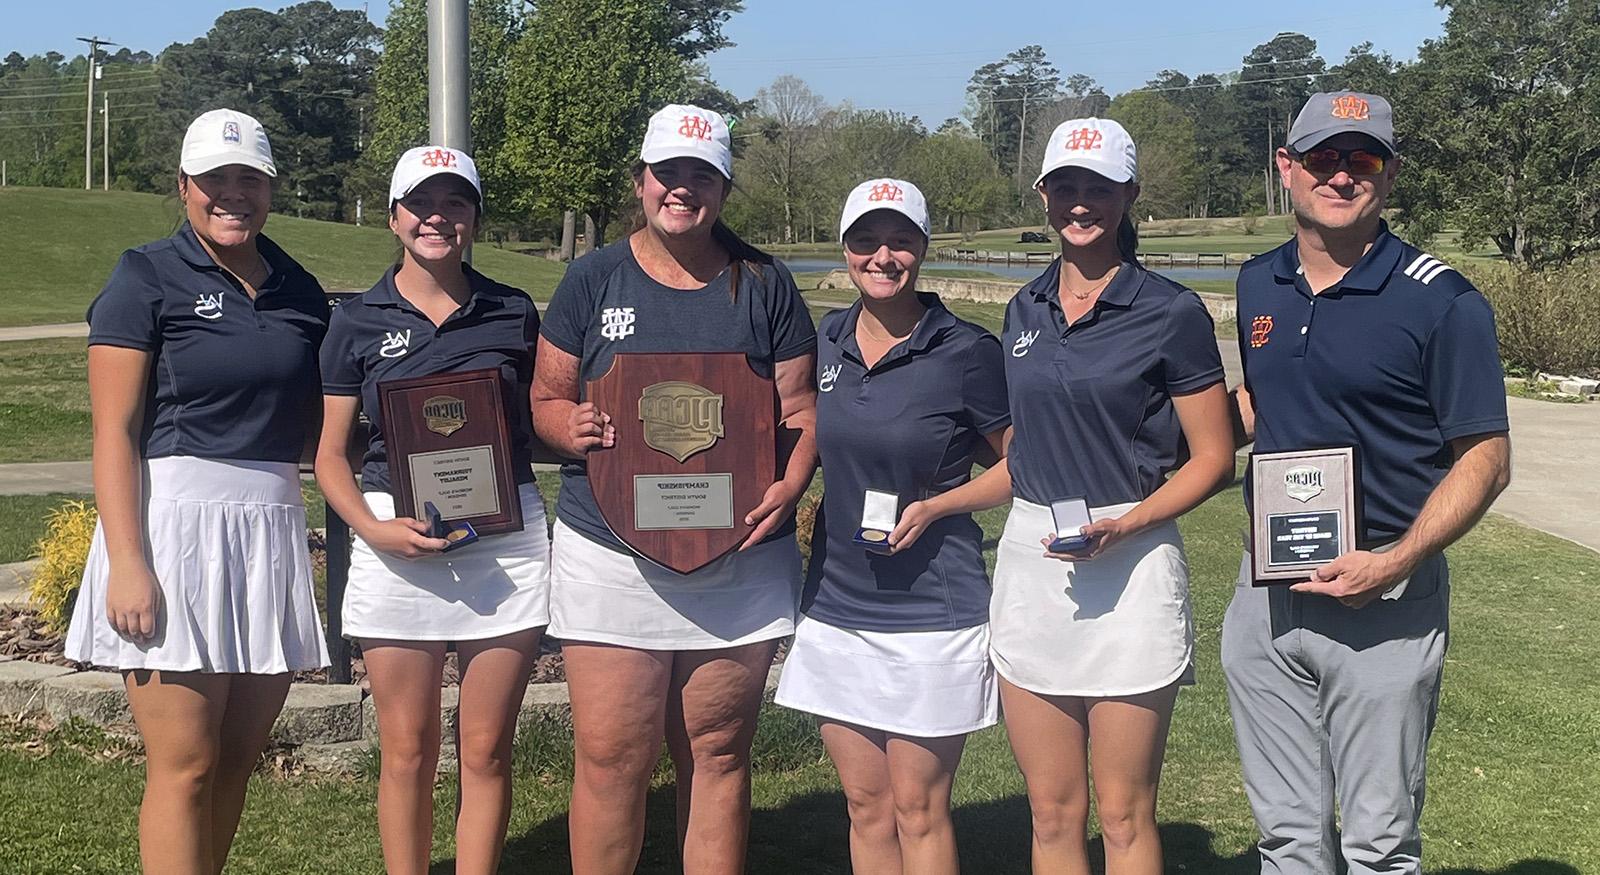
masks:
{"label": "pleated white skirt on the empty-handed woman at far left", "polygon": [[142,462],[144,555],[162,589],[155,637],[106,617],[110,557],[94,526],[66,656],[110,669],[275,675],[328,664],[299,469],[168,456]]}

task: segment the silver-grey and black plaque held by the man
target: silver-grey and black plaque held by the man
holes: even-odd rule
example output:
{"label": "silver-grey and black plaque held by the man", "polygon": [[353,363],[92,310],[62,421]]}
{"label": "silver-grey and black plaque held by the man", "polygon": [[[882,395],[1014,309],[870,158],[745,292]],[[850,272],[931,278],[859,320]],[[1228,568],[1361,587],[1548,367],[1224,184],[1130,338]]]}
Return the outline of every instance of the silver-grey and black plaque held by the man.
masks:
{"label": "silver-grey and black plaque held by the man", "polygon": [[1256,585],[1306,581],[1355,549],[1355,475],[1349,446],[1250,456]]}

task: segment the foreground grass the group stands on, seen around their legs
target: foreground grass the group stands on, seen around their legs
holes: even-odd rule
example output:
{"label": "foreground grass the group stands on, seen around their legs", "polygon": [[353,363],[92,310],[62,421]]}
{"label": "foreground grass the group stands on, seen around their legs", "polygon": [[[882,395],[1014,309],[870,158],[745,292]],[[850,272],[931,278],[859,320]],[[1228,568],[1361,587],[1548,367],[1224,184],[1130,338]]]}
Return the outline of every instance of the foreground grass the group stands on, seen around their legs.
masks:
{"label": "foreground grass the group stands on, seen around their legs", "polygon": [[[1003,512],[981,517],[992,539]],[[1254,827],[1238,777],[1218,637],[1238,565],[1237,489],[1182,521],[1194,574],[1198,686],[1179,697],[1162,785],[1170,872],[1254,872]],[[1451,550],[1453,633],[1430,757],[1427,870],[1448,875],[1576,875],[1600,870],[1600,558],[1490,517]],[[763,718],[757,745],[750,870],[848,872],[843,798],[805,721]],[[0,819],[8,872],[128,872],[136,867],[139,769],[98,752],[83,733],[40,737],[0,728]],[[32,749],[24,749],[34,742]],[[53,750],[38,755],[40,750]],[[518,742],[504,872],[566,872],[570,768],[562,734]],[[437,872],[448,872],[454,781],[435,797]],[[261,777],[229,872],[366,873],[379,869],[376,782]],[[93,798],[93,825],[83,805]],[[1027,806],[1005,729],[976,734],[955,785],[966,872],[1027,865]],[[672,872],[672,797],[662,774],[650,798],[640,872]]]}

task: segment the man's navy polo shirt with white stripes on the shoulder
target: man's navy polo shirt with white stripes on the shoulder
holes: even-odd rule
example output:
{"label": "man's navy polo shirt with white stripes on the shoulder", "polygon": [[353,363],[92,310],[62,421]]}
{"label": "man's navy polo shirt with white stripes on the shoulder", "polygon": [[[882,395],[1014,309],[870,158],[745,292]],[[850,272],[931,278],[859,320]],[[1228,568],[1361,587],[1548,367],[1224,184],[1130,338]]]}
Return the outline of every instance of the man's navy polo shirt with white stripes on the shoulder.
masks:
{"label": "man's navy polo shirt with white stripes on the shoulder", "polygon": [[1387,224],[1320,294],[1294,240],[1245,264],[1238,350],[1258,453],[1357,448],[1363,545],[1405,534],[1450,469],[1450,440],[1509,429],[1488,301]]}

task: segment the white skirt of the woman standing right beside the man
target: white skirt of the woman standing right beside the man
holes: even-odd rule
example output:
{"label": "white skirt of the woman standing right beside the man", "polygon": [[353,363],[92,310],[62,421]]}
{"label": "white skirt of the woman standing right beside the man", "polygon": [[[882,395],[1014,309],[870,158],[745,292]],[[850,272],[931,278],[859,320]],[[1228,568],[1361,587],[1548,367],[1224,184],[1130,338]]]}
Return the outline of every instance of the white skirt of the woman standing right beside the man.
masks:
{"label": "white skirt of the woman standing right beside the man", "polygon": [[1090,561],[1046,557],[1038,541],[1051,531],[1050,507],[1011,502],[989,603],[1000,677],[1043,696],[1091,697],[1194,683],[1189,560],[1178,523],[1141,531]]}

